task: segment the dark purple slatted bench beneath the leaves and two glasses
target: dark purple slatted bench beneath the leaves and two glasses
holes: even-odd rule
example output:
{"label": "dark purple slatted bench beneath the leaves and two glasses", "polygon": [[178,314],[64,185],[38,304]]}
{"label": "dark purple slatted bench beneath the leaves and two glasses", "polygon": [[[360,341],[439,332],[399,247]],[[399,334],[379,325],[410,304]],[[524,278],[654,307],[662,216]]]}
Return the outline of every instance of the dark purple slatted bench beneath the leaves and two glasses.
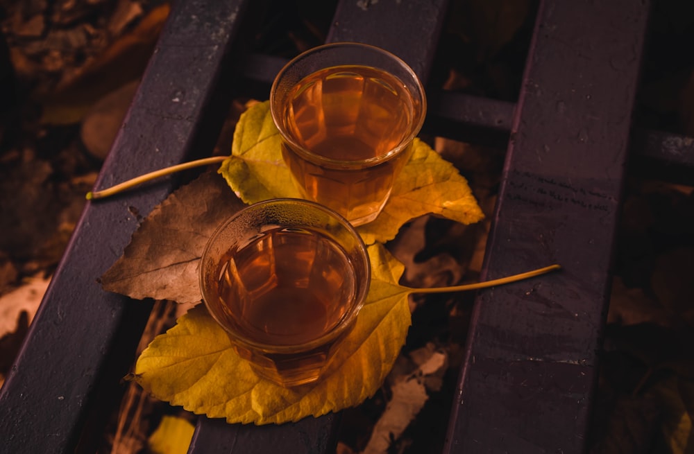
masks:
{"label": "dark purple slatted bench beneath the leaves and two glasses", "polygon": [[[647,3],[541,1],[517,103],[428,86],[427,134],[508,145],[482,277],[564,268],[477,295],[445,453],[586,448],[630,137],[648,137],[635,153],[692,164],[691,141],[632,130]],[[267,96],[285,61],[245,48],[257,6],[174,3],[97,187],[209,155],[232,97]],[[339,1],[328,41],[382,46],[427,82],[447,8]],[[0,392],[6,452],[94,452],[152,308],[96,279],[176,183],[87,204]],[[200,417],[189,453],[332,453],[339,423],[340,414],[260,427]]]}

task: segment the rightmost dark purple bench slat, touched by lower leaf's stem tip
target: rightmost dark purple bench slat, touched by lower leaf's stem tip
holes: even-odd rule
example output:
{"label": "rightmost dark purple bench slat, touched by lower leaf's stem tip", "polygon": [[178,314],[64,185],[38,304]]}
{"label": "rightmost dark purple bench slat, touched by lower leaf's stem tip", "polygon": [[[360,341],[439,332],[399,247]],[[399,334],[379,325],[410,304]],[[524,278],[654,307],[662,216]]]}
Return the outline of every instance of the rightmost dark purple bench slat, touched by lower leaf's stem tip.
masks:
{"label": "rightmost dark purple bench slat, touched by lower leaf's stem tip", "polygon": [[544,1],[527,60],[447,453],[581,453],[604,329],[648,2]]}

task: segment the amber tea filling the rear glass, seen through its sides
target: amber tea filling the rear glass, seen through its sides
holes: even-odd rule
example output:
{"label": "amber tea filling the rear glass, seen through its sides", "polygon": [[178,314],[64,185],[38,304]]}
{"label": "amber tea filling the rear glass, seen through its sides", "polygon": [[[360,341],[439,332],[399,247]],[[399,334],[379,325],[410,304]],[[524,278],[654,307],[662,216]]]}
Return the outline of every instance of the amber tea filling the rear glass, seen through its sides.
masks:
{"label": "amber tea filling the rear glass, seen through its sides", "polygon": [[342,161],[325,164],[286,144],[282,154],[303,195],[353,225],[373,220],[411,155],[407,146],[379,164],[414,127],[418,106],[397,78],[371,67],[332,67],[312,73],[288,96],[286,128],[305,150]]}

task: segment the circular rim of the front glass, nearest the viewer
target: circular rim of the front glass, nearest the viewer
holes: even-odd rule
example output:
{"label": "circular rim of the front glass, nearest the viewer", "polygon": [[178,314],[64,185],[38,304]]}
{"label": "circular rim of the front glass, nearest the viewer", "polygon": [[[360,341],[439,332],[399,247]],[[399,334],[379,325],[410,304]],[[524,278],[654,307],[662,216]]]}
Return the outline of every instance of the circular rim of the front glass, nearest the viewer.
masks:
{"label": "circular rim of the front glass, nearest the viewer", "polygon": [[[305,207],[310,207],[311,209],[318,209],[319,211],[322,211],[323,213],[327,214],[328,216],[335,218],[335,220],[338,221],[339,225],[346,229],[350,236],[353,236],[357,239],[357,255],[362,259],[364,262],[364,274],[365,278],[363,281],[360,281],[357,283],[357,290],[355,291],[355,304],[353,304],[349,310],[342,316],[340,319],[337,321],[335,326],[328,331],[328,333],[325,333],[321,335],[321,337],[310,340],[308,342],[303,342],[301,344],[288,344],[288,345],[278,345],[278,344],[267,344],[264,342],[257,342],[253,339],[250,339],[238,331],[235,331],[230,328],[230,326],[226,326],[225,323],[223,323],[223,320],[221,320],[221,317],[219,317],[219,314],[217,313],[217,310],[212,306],[212,303],[209,302],[210,295],[209,292],[206,291],[205,289],[207,286],[205,285],[205,279],[207,277],[207,274],[205,273],[205,259],[208,258],[209,251],[212,248],[212,244],[214,243],[214,240],[216,240],[219,235],[226,231],[230,225],[237,221],[241,216],[244,216],[244,213],[248,213],[253,210],[257,209],[262,209],[262,207],[268,206],[268,205],[286,205],[286,204],[291,204],[291,205],[303,205]],[[302,226],[306,228],[305,226]],[[310,228],[309,228],[310,229]],[[350,260],[351,262],[351,260]],[[214,264],[214,276],[213,279],[217,279],[219,276],[219,272],[221,272],[221,264],[220,263],[215,263]],[[226,220],[224,220],[221,225],[219,225],[212,235],[210,235],[210,238],[208,239],[208,242],[205,244],[205,249],[203,250],[203,254],[201,255],[200,262],[198,265],[198,286],[200,288],[200,293],[202,295],[203,299],[203,304],[205,304],[205,307],[208,309],[208,312],[210,315],[212,315],[212,318],[214,319],[215,322],[221,328],[230,335],[230,337],[233,338],[232,342],[237,342],[239,344],[242,344],[244,347],[250,347],[253,349],[261,350],[264,351],[265,353],[299,353],[303,351],[310,351],[312,349],[316,349],[317,347],[320,347],[321,345],[330,342],[330,340],[333,340],[335,338],[338,338],[346,329],[349,329],[350,326],[352,326],[353,322],[355,321],[359,311],[361,310],[362,306],[364,306],[364,302],[366,301],[366,297],[369,294],[369,288],[371,287],[371,260],[369,259],[369,252],[366,250],[366,244],[364,243],[364,240],[362,239],[362,236],[359,235],[355,227],[350,224],[350,222],[344,218],[344,216],[341,216],[341,214],[337,213],[337,211],[334,211],[328,207],[325,207],[322,204],[319,204],[317,202],[312,202],[311,200],[305,200],[305,199],[299,199],[299,198],[274,198],[274,199],[268,199],[268,200],[262,200],[261,202],[255,202],[253,204],[250,204],[246,207],[243,207],[236,213],[232,214]]]}

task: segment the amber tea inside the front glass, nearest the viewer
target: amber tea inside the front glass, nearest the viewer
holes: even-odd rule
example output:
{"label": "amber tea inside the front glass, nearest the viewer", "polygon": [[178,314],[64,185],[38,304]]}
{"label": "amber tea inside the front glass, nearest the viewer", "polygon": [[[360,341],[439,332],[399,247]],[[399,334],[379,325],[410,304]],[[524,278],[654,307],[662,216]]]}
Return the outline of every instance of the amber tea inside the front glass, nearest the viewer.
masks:
{"label": "amber tea inside the front glass, nearest the viewer", "polygon": [[298,345],[334,329],[355,288],[338,245],[314,232],[276,229],[235,252],[223,267],[219,297],[245,338]]}

